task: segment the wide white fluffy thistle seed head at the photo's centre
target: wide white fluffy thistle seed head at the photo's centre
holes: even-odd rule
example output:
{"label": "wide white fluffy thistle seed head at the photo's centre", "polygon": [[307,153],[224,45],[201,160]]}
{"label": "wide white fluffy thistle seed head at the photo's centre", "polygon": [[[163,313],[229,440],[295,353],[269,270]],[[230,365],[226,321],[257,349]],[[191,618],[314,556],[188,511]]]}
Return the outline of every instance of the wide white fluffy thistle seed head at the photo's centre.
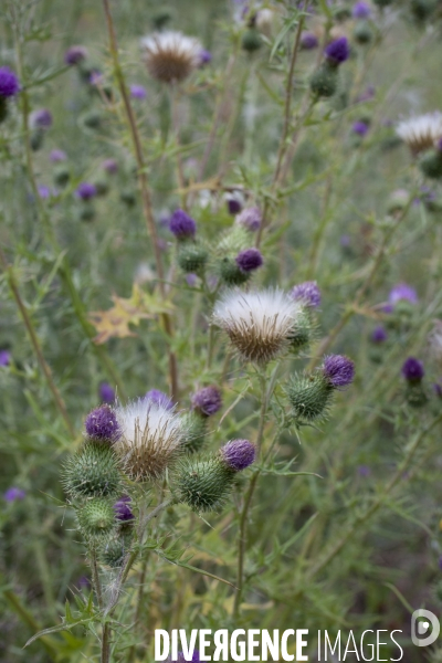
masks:
{"label": "wide white fluffy thistle seed head at the photo's centre", "polygon": [[278,288],[231,290],[217,302],[213,320],[245,359],[265,364],[290,347],[301,314],[299,303]]}

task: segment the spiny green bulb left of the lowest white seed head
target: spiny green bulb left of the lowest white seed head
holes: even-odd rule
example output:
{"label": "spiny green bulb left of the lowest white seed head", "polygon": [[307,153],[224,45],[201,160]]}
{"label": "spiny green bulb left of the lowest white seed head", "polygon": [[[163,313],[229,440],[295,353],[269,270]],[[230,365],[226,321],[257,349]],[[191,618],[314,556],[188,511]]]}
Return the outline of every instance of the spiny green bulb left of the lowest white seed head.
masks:
{"label": "spiny green bulb left of the lowest white seed head", "polygon": [[63,483],[73,497],[118,494],[122,477],[114,450],[105,443],[85,442],[67,461]]}

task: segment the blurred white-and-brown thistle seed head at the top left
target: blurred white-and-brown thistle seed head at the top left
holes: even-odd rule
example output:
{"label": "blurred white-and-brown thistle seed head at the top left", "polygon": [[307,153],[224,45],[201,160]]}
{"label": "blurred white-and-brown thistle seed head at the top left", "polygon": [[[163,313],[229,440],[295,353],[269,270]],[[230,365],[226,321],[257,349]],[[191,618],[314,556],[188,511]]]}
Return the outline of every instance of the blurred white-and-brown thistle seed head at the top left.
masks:
{"label": "blurred white-and-brown thistle seed head at the top left", "polygon": [[149,73],[161,83],[187,78],[200,64],[202,45],[181,32],[157,32],[141,39]]}

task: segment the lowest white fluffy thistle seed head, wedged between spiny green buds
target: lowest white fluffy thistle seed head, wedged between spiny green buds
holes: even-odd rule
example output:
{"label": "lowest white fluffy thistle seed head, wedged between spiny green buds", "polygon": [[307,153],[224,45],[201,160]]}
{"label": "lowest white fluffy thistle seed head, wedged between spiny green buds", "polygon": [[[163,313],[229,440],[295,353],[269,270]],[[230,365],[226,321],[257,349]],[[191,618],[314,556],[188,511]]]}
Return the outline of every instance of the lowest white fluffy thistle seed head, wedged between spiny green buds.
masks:
{"label": "lowest white fluffy thistle seed head, wedged between spiny green buds", "polygon": [[135,481],[160,478],[175,460],[185,439],[179,413],[147,399],[116,409],[122,438],[116,452]]}

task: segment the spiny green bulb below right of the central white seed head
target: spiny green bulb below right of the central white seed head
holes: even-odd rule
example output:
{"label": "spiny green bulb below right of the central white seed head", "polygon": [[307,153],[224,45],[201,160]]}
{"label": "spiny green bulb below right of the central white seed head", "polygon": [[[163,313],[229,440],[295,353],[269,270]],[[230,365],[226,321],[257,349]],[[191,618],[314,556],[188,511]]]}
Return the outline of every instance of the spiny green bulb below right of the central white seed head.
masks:
{"label": "spiny green bulb below right of the central white seed head", "polygon": [[333,387],[320,373],[296,375],[287,389],[287,398],[297,421],[309,422],[326,414]]}

